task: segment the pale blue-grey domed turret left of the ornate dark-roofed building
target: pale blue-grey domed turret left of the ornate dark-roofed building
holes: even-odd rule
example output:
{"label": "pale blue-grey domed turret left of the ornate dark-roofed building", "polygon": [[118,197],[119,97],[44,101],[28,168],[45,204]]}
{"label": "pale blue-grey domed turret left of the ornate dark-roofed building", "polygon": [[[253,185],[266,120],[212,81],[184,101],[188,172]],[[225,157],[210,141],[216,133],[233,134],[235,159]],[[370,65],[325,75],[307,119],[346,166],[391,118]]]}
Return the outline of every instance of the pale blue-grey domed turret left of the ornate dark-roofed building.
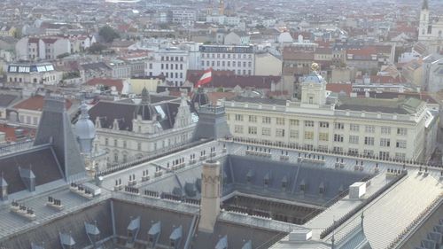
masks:
{"label": "pale blue-grey domed turret left of the ornate dark-roofed building", "polygon": [[96,128],[94,123],[89,120],[88,107],[84,102],[80,109],[82,113],[79,120],[75,123],[75,134],[80,145],[80,151],[82,153],[90,153],[92,152],[92,142],[96,137]]}

